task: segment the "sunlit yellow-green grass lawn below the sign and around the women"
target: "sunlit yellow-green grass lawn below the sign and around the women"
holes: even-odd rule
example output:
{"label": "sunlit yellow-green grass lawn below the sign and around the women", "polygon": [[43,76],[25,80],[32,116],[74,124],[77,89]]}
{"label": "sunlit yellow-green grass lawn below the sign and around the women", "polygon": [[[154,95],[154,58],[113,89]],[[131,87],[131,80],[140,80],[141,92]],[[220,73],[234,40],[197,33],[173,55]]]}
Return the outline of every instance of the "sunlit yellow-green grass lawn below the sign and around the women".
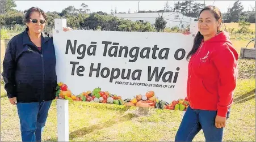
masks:
{"label": "sunlit yellow-green grass lawn below the sign and around the women", "polygon": [[[1,140],[20,141],[16,107],[1,87]],[[135,107],[73,102],[69,104],[70,141],[174,141],[182,111],[149,110],[140,115]],[[57,141],[56,101],[53,102],[44,141]],[[194,141],[204,141],[200,131]],[[255,141],[255,79],[239,79],[224,141]]]}

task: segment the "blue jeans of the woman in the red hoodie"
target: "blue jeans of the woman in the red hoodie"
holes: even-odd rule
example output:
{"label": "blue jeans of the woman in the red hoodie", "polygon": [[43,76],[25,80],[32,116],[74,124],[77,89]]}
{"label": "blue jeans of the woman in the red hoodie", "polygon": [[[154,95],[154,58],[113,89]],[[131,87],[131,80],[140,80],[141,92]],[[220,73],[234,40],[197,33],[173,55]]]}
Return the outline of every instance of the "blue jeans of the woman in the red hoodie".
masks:
{"label": "blue jeans of the woman in the red hoodie", "polygon": [[175,141],[192,141],[201,129],[205,141],[222,141],[223,128],[215,127],[216,115],[217,111],[191,109],[188,106],[175,136]]}

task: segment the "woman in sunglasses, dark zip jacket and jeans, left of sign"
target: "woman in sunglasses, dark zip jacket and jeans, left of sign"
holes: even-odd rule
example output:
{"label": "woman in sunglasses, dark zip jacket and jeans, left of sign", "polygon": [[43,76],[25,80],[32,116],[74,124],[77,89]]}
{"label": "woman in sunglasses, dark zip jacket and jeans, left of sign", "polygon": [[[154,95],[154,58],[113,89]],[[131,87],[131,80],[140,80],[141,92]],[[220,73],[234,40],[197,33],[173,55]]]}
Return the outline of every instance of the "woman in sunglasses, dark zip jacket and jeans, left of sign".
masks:
{"label": "woman in sunglasses, dark zip jacket and jeans, left of sign", "polygon": [[[10,103],[17,106],[23,141],[41,141],[57,76],[53,38],[43,32],[46,15],[32,7],[27,28],[11,38],[3,60],[3,80]],[[70,28],[64,28],[68,31]]]}

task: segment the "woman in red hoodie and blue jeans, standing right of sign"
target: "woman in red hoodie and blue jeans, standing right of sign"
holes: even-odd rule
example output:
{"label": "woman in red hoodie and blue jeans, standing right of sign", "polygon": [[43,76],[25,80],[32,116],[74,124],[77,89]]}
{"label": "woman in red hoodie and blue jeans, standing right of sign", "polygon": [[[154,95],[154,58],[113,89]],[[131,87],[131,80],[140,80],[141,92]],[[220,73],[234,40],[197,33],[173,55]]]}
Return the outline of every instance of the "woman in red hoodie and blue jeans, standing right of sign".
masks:
{"label": "woman in red hoodie and blue jeans, standing right of sign", "polygon": [[200,11],[199,32],[187,55],[187,97],[190,102],[175,141],[192,141],[202,129],[205,141],[222,141],[233,92],[236,88],[237,51],[229,37],[220,31],[219,8]]}

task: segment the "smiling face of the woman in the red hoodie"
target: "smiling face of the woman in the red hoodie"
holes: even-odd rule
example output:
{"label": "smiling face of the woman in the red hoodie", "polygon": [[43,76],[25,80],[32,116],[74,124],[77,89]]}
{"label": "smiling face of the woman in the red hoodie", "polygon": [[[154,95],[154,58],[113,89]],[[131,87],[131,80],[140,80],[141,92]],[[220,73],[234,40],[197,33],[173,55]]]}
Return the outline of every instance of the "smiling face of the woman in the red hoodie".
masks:
{"label": "smiling face of the woman in the red hoodie", "polygon": [[220,21],[221,19],[215,19],[215,16],[211,11],[204,10],[198,19],[199,32],[203,36],[215,35],[218,27],[220,27]]}

